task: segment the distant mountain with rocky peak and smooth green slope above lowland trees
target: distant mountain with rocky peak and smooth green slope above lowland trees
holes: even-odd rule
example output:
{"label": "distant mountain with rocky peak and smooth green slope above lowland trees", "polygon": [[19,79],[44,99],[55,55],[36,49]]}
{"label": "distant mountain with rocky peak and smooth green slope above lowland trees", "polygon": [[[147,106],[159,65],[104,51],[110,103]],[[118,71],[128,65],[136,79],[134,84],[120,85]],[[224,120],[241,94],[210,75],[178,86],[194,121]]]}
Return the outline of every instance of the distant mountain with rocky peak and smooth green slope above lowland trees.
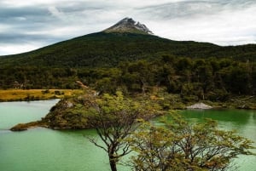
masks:
{"label": "distant mountain with rocky peak and smooth green slope above lowland trees", "polygon": [[221,47],[212,43],[172,41],[151,35],[151,31],[143,24],[136,24],[125,18],[102,32],[76,37],[24,54],[2,56],[0,65],[108,67],[116,66],[122,61],[155,59],[162,54],[255,60],[256,45]]}

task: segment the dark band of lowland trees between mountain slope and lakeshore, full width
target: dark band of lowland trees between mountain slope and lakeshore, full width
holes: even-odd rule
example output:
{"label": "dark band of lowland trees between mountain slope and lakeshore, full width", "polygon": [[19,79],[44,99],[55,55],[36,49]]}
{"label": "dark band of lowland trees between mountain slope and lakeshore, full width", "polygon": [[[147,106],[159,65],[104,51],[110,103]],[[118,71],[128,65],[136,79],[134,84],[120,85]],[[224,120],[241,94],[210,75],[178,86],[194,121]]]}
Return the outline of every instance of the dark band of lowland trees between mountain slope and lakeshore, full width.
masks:
{"label": "dark band of lowland trees between mountain slope and lakeshore, full width", "polygon": [[114,68],[51,68],[5,66],[0,88],[79,88],[75,82],[102,93],[117,89],[126,94],[151,92],[154,87],[181,94],[183,100],[224,101],[230,94],[256,93],[256,63],[226,59],[175,58],[122,62]]}

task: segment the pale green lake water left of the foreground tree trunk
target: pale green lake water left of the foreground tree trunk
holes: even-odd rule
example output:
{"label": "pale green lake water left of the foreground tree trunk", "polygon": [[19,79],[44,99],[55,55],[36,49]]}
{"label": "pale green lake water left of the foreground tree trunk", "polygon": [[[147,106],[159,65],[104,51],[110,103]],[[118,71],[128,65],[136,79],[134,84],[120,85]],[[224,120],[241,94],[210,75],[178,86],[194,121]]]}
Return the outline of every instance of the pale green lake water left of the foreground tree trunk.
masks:
{"label": "pale green lake water left of the foreground tree trunk", "polygon": [[85,137],[94,130],[55,131],[32,128],[10,132],[16,123],[44,117],[57,100],[0,103],[1,171],[108,171],[106,153]]}

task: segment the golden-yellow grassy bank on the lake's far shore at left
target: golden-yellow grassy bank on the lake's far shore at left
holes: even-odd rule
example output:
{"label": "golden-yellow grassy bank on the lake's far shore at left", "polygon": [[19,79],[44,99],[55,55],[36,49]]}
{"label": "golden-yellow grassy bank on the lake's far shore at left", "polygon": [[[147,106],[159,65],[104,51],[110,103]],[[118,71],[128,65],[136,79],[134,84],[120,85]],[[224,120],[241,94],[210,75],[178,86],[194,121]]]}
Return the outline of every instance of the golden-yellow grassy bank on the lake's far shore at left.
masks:
{"label": "golden-yellow grassy bank on the lake's far shore at left", "polygon": [[82,92],[81,89],[0,89],[0,101],[49,100]]}

